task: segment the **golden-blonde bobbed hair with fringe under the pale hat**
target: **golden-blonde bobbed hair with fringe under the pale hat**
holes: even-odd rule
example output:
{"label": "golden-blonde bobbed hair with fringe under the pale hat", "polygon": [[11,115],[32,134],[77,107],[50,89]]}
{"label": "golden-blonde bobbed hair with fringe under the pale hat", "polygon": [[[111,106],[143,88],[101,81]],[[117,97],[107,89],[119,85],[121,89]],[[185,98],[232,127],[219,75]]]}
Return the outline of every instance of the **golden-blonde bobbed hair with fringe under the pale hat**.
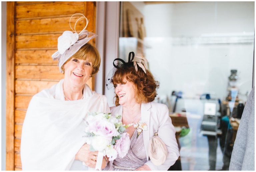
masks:
{"label": "golden-blonde bobbed hair with fringe under the pale hat", "polygon": [[97,48],[92,46],[91,44],[89,44],[89,43],[84,44],[73,56],[71,56],[61,66],[62,71],[65,72],[64,66],[72,58],[88,60],[88,61],[92,62],[93,70],[91,73],[91,77],[98,73],[99,67],[100,67],[100,54],[99,54]]}

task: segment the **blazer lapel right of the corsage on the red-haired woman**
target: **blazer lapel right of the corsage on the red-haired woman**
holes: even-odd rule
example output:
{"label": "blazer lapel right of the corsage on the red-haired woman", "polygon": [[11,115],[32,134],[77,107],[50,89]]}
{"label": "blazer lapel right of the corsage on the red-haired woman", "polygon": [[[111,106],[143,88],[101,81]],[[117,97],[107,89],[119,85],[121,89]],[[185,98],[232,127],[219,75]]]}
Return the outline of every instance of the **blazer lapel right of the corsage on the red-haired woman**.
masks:
{"label": "blazer lapel right of the corsage on the red-haired woman", "polygon": [[147,124],[147,130],[143,130],[143,142],[145,146],[147,160],[149,159],[148,156],[148,146],[149,146],[149,139],[150,139],[150,103],[142,103],[141,104],[141,122],[145,122]]}

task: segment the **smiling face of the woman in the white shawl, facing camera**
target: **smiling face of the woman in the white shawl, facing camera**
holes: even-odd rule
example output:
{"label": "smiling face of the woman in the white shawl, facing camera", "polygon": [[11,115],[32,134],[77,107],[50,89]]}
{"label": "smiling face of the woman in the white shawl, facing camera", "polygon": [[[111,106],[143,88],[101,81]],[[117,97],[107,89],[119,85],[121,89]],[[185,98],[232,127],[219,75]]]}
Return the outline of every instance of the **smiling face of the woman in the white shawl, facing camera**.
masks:
{"label": "smiling face of the woman in the white shawl, facing camera", "polygon": [[65,65],[64,80],[73,86],[80,86],[87,82],[90,78],[93,67],[89,60],[71,58]]}

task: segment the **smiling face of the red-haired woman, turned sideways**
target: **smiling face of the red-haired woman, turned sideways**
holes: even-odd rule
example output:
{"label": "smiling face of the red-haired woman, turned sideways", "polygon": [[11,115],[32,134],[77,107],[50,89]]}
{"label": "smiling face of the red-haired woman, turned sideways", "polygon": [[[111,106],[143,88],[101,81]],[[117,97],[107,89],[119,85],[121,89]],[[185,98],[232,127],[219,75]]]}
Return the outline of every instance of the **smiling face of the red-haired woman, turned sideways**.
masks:
{"label": "smiling face of the red-haired woman, turned sideways", "polygon": [[123,106],[132,106],[136,103],[134,84],[126,79],[123,84],[115,85],[115,92],[119,97],[119,104]]}

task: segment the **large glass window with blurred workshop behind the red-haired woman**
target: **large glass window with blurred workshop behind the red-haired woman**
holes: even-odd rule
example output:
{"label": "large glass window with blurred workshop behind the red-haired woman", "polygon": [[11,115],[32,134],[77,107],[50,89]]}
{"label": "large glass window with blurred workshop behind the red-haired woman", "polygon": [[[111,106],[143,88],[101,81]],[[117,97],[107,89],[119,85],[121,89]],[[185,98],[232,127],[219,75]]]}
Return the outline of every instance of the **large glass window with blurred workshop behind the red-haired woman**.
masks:
{"label": "large glass window with blurred workshop behind the red-haired woman", "polygon": [[131,51],[160,82],[155,101],[180,146],[173,169],[228,170],[252,88],[254,2],[121,2],[119,58]]}

